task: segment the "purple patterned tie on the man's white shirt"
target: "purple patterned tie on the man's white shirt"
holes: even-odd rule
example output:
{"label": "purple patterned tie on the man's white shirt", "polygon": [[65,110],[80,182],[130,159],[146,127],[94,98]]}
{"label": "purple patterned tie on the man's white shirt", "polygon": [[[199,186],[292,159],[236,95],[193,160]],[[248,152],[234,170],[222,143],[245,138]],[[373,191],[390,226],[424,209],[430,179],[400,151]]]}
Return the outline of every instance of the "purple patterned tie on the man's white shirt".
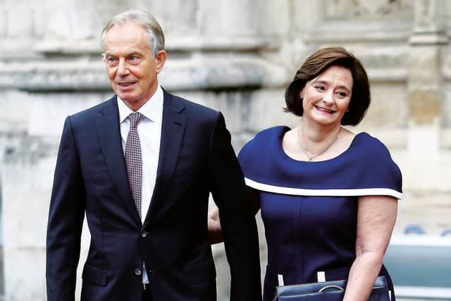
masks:
{"label": "purple patterned tie on the man's white shirt", "polygon": [[142,118],[142,114],[135,112],[128,116],[130,130],[128,131],[127,142],[125,142],[125,166],[127,166],[128,182],[132,190],[132,197],[141,219],[141,190],[142,190],[142,158],[141,143],[138,135],[137,125]]}

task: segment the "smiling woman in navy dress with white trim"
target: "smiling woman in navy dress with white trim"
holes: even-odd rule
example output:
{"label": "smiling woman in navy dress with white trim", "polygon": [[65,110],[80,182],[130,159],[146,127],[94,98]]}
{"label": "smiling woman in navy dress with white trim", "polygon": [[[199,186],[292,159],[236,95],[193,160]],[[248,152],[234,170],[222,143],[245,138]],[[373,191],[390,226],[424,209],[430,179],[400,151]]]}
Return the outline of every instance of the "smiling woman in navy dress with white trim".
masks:
{"label": "smiling woman in navy dress with white trim", "polygon": [[[348,279],[345,301],[366,300],[383,266],[402,197],[400,169],[388,149],[357,125],[370,103],[362,63],[340,47],[319,49],[285,91],[299,126],[258,133],[238,159],[261,209],[268,244],[264,301],[275,287]],[[212,211],[212,236],[221,231]]]}

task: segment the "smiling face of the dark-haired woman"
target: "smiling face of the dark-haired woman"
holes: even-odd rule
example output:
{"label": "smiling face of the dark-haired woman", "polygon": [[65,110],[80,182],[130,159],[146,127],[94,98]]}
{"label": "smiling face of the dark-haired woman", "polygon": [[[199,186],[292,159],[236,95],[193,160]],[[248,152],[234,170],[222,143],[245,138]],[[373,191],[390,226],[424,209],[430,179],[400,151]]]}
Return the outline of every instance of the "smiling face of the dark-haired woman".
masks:
{"label": "smiling face of the dark-haired woman", "polygon": [[340,125],[350,104],[352,84],[351,71],[341,66],[330,66],[309,80],[300,94],[302,118],[319,125]]}

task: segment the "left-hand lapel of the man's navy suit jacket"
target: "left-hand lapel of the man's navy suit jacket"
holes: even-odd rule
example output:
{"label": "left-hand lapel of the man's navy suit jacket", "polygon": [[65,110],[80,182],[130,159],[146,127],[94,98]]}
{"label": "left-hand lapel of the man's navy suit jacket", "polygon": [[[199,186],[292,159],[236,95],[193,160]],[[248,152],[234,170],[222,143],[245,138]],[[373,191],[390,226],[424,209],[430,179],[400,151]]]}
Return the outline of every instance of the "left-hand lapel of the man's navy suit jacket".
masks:
{"label": "left-hand lapel of the man's navy suit jacket", "polygon": [[113,184],[116,186],[121,199],[123,199],[130,216],[140,225],[140,216],[132,200],[132,192],[125,168],[116,96],[101,107],[99,118],[97,118],[97,134]]}

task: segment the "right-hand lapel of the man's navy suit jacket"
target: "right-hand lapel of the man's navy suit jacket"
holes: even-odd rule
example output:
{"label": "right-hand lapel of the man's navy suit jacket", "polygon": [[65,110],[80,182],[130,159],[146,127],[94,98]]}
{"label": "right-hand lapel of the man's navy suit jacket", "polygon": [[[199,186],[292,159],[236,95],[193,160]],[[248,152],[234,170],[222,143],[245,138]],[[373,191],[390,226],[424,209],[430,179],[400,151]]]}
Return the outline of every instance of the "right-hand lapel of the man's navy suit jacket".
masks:
{"label": "right-hand lapel of the man's navy suit jacket", "polygon": [[154,193],[144,221],[144,227],[149,224],[161,207],[177,166],[183,145],[183,136],[185,135],[186,118],[183,114],[185,106],[164,90],[163,97],[159,163],[156,171]]}

